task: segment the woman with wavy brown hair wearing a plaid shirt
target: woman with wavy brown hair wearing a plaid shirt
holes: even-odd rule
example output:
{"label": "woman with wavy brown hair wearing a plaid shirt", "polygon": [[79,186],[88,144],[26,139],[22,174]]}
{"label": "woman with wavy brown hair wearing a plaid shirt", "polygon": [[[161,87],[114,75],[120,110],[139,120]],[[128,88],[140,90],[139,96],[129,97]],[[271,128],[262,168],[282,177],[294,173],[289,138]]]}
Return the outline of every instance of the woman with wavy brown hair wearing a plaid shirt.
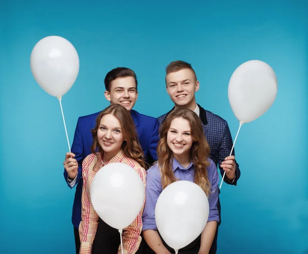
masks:
{"label": "woman with wavy brown hair wearing a plaid shirt", "polygon": [[[95,212],[90,200],[90,186],[95,174],[112,162],[128,164],[140,175],[145,185],[145,163],[135,125],[122,105],[110,105],[97,117],[92,130],[92,154],[82,164],[82,221],[79,226],[80,253],[121,253],[119,231],[107,225]],[[123,230],[123,253],[136,253],[141,242],[142,211]],[[99,225],[99,228],[98,228]]]}

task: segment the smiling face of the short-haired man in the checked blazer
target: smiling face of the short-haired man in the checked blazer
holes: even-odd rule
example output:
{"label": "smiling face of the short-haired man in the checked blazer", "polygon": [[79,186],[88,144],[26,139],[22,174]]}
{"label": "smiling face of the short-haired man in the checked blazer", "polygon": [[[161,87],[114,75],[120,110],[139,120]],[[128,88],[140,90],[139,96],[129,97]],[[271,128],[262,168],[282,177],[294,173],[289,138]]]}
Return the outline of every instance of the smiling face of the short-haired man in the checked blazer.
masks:
{"label": "smiling face of the short-haired man in the checked blazer", "polygon": [[166,75],[166,89],[176,108],[192,111],[196,108],[195,92],[199,90],[199,81],[192,70],[182,69]]}

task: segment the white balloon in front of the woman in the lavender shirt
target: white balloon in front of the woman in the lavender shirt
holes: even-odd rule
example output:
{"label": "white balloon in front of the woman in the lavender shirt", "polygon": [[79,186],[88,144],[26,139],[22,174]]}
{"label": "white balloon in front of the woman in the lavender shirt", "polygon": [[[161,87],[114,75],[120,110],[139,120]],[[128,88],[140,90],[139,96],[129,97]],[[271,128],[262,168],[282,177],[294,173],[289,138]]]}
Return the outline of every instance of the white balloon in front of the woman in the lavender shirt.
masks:
{"label": "white balloon in front of the woman in the lavender shirt", "polygon": [[176,251],[201,234],[208,214],[209,205],[203,189],[189,181],[168,185],[155,207],[157,229],[164,241]]}

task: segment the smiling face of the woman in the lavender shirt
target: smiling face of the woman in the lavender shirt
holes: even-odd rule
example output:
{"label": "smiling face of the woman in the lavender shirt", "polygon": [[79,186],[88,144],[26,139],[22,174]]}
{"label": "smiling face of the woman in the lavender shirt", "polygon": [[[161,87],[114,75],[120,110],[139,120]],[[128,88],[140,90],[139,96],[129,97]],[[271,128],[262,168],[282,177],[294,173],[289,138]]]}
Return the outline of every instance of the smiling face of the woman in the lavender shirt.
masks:
{"label": "smiling face of the woman in the lavender shirt", "polygon": [[181,160],[189,159],[192,137],[188,120],[178,117],[171,121],[167,133],[167,144],[177,160],[179,157]]}

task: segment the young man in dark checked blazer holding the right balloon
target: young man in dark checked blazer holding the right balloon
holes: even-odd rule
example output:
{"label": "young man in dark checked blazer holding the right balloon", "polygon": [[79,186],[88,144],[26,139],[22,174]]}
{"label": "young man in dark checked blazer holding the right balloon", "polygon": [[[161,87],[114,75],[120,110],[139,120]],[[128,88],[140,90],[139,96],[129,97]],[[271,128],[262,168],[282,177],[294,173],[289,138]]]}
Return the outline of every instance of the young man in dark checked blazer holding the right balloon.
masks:
{"label": "young man in dark checked blazer holding the right balloon", "polygon": [[[236,185],[240,178],[240,168],[235,160],[235,152],[230,155],[233,140],[227,122],[218,115],[203,109],[196,103],[195,93],[199,90],[199,81],[191,65],[184,61],[173,61],[166,67],[166,90],[175,107],[158,118],[161,124],[175,108],[186,108],[194,111],[201,119],[204,134],[210,146],[210,156],[220,169],[221,175],[226,172],[224,181]],[[220,217],[220,202],[218,201]],[[219,223],[220,224],[220,223]],[[219,226],[218,224],[218,226]],[[216,253],[217,234],[209,253]]]}

